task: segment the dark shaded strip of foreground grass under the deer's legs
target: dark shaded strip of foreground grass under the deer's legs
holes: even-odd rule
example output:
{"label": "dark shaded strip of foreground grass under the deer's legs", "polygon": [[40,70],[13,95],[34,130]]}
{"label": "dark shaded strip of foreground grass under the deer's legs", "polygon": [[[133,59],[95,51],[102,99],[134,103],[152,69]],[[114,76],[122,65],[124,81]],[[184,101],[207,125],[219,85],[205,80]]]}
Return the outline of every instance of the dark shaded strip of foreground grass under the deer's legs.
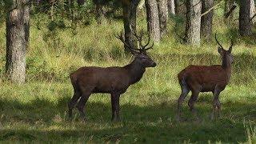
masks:
{"label": "dark shaded strip of foreground grass under the deer's legs", "polygon": [[86,122],[78,118],[70,122],[66,120],[69,99],[60,98],[57,103],[46,99],[29,103],[0,99],[0,122],[5,127],[2,130],[0,127],[0,141],[244,142],[243,120],[255,123],[256,118],[254,102],[226,102],[222,104],[222,118],[210,121],[211,97],[206,95],[197,103],[202,117],[200,123],[191,118],[186,102],[183,105],[186,122],[174,121],[176,104],[173,102],[153,102],[144,106],[123,104],[122,122],[118,123],[110,122],[110,102],[87,102]]}

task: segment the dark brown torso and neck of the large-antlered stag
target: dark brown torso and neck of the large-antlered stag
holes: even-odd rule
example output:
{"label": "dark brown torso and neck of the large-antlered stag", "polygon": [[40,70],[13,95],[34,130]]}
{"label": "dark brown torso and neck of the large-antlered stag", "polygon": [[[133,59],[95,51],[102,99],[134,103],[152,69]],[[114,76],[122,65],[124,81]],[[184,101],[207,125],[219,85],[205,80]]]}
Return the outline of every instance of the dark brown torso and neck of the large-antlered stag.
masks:
{"label": "dark brown torso and neck of the large-antlered stag", "polygon": [[145,70],[142,66],[137,67],[135,61],[124,67],[82,67],[70,74],[70,79],[82,91],[90,89],[92,93],[123,94],[142,78]]}

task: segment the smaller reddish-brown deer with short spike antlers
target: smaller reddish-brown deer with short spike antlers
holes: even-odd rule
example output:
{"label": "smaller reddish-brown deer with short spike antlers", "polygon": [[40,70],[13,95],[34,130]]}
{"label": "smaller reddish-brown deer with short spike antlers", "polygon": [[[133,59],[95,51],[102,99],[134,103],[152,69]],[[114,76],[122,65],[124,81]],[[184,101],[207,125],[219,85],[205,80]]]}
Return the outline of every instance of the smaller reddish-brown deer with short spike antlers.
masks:
{"label": "smaller reddish-brown deer with short spike antlers", "polygon": [[178,74],[178,82],[182,88],[182,94],[178,98],[178,120],[181,116],[182,102],[190,90],[192,91],[192,95],[188,106],[193,114],[196,115],[194,103],[200,92],[212,92],[214,94],[213,112],[210,114],[210,118],[213,119],[216,114],[218,114],[218,116],[220,114],[221,103],[219,102],[218,95],[225,89],[230,81],[231,63],[233,62],[231,51],[234,42],[231,39],[229,50],[224,50],[222,45],[218,42],[216,34],[215,40],[219,45],[218,53],[222,56],[222,65],[187,66]]}

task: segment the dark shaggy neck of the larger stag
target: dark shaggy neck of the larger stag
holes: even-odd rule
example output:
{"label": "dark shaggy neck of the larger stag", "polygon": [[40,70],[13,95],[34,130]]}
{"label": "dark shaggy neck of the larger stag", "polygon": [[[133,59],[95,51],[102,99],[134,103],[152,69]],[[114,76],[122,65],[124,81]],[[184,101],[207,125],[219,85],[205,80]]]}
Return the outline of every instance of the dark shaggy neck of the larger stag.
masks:
{"label": "dark shaggy neck of the larger stag", "polygon": [[141,63],[136,60],[136,58],[129,65],[124,66],[124,68],[128,70],[130,76],[130,84],[138,82],[146,71],[146,68],[143,67]]}

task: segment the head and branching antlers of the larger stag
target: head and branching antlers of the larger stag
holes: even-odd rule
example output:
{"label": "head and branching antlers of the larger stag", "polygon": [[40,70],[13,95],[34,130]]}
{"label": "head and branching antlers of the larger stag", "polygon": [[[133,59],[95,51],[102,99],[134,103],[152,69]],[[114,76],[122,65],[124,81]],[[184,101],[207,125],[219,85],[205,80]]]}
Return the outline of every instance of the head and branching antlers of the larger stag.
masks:
{"label": "head and branching antlers of the larger stag", "polygon": [[157,64],[154,62],[152,58],[146,53],[146,50],[150,50],[154,46],[154,42],[151,46],[150,44],[150,34],[148,34],[148,42],[146,42],[145,45],[142,44],[142,38],[143,38],[143,32],[141,32],[139,35],[134,34],[134,37],[138,41],[139,48],[135,48],[133,45],[130,45],[130,41],[126,42],[124,38],[124,34],[121,32],[120,34],[115,35],[116,38],[120,39],[122,43],[126,46],[126,48],[130,51],[131,54],[134,55],[134,60],[138,63],[140,63],[143,67],[154,67],[157,66]]}

